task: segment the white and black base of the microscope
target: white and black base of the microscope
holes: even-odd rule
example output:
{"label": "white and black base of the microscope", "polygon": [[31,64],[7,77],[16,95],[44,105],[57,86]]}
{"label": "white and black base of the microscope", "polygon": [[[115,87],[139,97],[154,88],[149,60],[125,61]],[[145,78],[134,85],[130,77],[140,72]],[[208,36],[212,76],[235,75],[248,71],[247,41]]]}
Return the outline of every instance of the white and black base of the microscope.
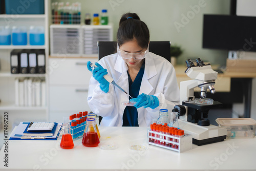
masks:
{"label": "white and black base of the microscope", "polygon": [[192,135],[193,144],[204,145],[226,139],[227,130],[215,125],[199,126],[197,123],[191,123],[179,119],[179,127],[184,133]]}

